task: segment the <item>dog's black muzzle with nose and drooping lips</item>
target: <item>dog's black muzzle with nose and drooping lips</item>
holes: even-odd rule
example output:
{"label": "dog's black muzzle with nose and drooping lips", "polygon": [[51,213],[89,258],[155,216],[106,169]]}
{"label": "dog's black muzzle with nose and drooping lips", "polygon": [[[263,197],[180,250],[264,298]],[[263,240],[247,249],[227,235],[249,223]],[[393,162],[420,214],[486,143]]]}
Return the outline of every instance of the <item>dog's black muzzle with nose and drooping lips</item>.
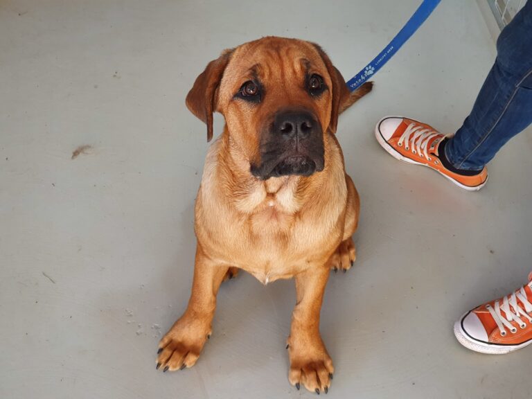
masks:
{"label": "dog's black muzzle with nose and drooping lips", "polygon": [[317,118],[306,110],[285,110],[273,119],[260,141],[260,163],[251,164],[251,173],[266,180],[323,170],[323,131]]}

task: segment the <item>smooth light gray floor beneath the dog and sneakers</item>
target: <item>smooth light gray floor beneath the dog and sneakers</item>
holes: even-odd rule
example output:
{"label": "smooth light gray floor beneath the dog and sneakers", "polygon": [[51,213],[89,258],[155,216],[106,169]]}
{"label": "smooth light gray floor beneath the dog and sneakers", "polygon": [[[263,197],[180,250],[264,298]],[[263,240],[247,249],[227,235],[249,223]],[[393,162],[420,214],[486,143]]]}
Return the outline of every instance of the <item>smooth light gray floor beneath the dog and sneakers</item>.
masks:
{"label": "smooth light gray floor beneath the dog and sneakers", "polygon": [[[222,48],[262,35],[318,42],[350,78],[418,3],[1,1],[0,397],[310,398],[287,382],[292,281],[224,284],[197,365],[155,371],[190,292],[208,148],[184,98]],[[477,4],[443,1],[340,120],[362,215],[322,309],[330,398],[530,398],[531,349],[472,353],[452,323],[531,269],[531,130],[479,193],[373,137],[386,114],[453,132],[494,57]]]}

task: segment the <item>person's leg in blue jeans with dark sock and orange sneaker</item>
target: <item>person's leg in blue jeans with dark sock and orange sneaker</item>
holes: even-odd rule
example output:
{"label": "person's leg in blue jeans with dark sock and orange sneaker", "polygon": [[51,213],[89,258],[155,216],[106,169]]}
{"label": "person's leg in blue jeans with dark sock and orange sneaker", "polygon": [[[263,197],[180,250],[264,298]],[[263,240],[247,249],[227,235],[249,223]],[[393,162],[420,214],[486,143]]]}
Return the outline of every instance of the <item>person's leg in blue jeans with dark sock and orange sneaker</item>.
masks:
{"label": "person's leg in blue jeans with dark sock and orange sneaker", "polygon": [[375,137],[394,158],[428,166],[465,190],[488,179],[486,163],[532,122],[532,0],[497,41],[497,60],[463,126],[448,139],[434,127],[387,116]]}

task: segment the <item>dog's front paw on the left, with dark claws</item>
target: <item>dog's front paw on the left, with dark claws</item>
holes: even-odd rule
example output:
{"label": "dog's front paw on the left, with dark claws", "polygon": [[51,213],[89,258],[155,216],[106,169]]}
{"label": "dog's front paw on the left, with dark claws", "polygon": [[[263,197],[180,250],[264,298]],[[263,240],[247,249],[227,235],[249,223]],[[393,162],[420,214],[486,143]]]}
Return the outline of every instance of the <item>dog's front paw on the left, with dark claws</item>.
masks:
{"label": "dog's front paw on the left, with dark claws", "polygon": [[159,342],[157,370],[182,370],[192,367],[199,357],[211,329],[199,321],[181,318]]}

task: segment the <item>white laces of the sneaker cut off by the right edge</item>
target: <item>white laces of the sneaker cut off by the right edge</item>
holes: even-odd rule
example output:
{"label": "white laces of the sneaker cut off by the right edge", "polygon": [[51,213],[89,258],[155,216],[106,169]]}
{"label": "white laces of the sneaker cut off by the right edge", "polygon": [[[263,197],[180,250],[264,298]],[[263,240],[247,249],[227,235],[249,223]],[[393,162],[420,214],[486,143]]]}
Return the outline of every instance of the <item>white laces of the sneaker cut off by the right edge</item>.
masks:
{"label": "white laces of the sneaker cut off by the right edge", "polygon": [[[532,281],[529,283],[529,287],[532,288]],[[522,305],[524,305],[524,309],[519,303],[517,303],[517,299],[519,299]],[[488,309],[491,317],[493,317],[493,320],[497,323],[497,327],[499,327],[499,331],[503,337],[506,335],[505,326],[508,327],[508,330],[510,330],[512,334],[517,332],[517,328],[511,324],[514,320],[517,321],[520,328],[526,327],[526,323],[522,320],[523,316],[529,320],[529,323],[532,323],[532,317],[529,316],[529,313],[532,312],[532,303],[526,298],[524,287],[521,287],[520,290],[513,292],[511,295],[504,296],[502,305],[500,305],[499,301],[495,301],[495,309],[489,304],[486,305],[486,309]],[[504,311],[506,317],[501,314],[501,310]]]}

